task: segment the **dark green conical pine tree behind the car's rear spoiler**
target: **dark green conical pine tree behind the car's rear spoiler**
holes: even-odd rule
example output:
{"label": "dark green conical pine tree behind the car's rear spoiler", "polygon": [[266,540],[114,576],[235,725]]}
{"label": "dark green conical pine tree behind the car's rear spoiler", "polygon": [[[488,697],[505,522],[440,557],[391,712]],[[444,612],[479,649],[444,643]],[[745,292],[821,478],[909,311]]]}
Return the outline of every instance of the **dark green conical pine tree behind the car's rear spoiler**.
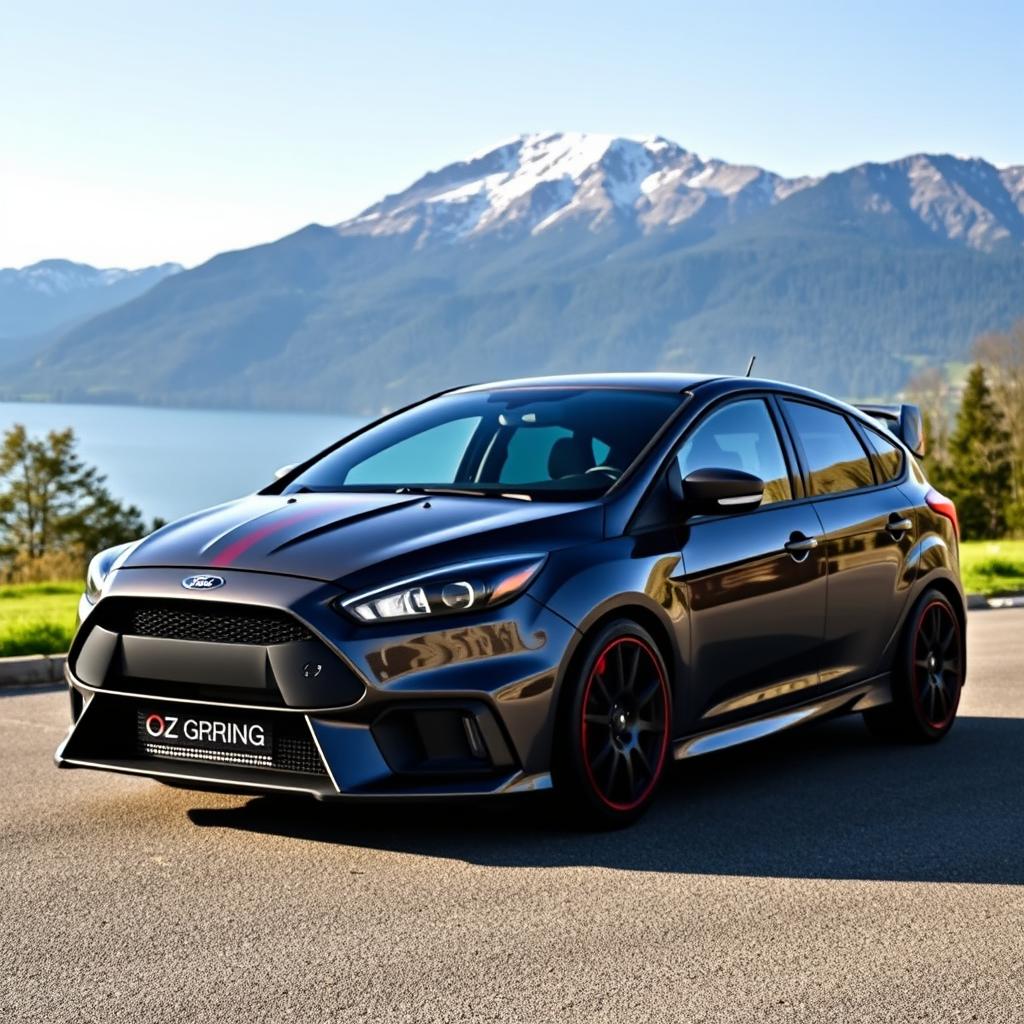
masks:
{"label": "dark green conical pine tree behind the car's rear spoiler", "polygon": [[1010,453],[1010,435],[988,390],[985,371],[976,364],[968,375],[949,438],[949,470],[944,480],[956,503],[966,540],[1006,532],[1012,501]]}

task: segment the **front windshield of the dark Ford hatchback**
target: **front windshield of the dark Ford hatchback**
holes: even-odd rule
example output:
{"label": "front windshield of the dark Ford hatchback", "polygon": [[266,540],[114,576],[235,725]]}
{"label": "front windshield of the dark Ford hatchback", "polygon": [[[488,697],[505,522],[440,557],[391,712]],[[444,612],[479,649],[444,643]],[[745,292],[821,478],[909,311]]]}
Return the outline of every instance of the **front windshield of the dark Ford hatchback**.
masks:
{"label": "front windshield of the dark Ford hatchback", "polygon": [[443,395],[399,413],[309,466],[286,487],[604,494],[679,408],[680,397],[613,388]]}

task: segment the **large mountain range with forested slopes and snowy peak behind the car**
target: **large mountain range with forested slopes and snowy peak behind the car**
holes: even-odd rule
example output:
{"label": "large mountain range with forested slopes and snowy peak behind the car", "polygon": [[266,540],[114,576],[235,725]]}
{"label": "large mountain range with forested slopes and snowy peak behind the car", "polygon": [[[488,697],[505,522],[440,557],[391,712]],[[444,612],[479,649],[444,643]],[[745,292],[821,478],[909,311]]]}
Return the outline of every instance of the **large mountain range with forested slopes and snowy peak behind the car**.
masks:
{"label": "large mountain range with forested slopes and snowy peak behind the car", "polygon": [[170,276],[0,390],[366,414],[756,352],[760,373],[873,396],[1021,314],[1022,167],[922,154],[793,179],[662,137],[539,134]]}

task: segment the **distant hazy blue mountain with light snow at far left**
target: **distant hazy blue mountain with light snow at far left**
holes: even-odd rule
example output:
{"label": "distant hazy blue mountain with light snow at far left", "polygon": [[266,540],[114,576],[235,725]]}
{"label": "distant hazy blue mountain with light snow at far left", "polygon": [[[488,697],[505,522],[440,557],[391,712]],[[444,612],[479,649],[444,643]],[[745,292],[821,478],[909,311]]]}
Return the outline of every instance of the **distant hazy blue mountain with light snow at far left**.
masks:
{"label": "distant hazy blue mountain with light snow at far left", "polygon": [[63,259],[0,268],[0,358],[5,348],[12,354],[24,351],[11,339],[46,339],[68,331],[74,323],[134,299],[180,269],[177,263],[140,270],[97,269]]}

